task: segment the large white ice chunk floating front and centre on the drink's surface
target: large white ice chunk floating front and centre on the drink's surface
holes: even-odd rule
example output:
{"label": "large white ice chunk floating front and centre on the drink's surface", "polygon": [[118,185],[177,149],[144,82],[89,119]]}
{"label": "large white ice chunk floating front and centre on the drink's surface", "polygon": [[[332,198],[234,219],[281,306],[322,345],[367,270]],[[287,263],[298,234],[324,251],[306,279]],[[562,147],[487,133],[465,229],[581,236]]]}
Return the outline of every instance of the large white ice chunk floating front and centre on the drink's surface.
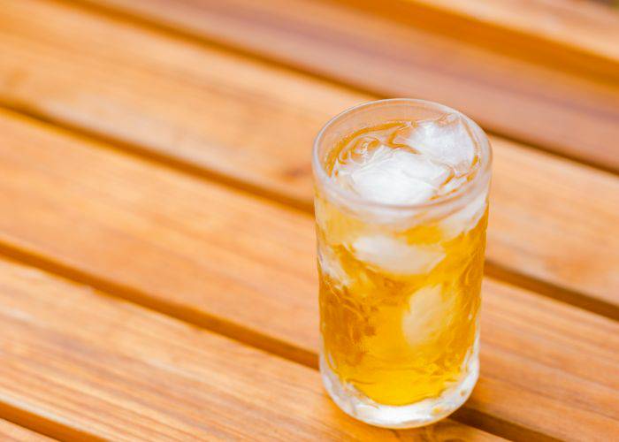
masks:
{"label": "large white ice chunk floating front and centre on the drink's surface", "polygon": [[340,186],[367,200],[390,204],[427,201],[450,174],[444,164],[385,145],[368,151],[360,161],[337,163],[333,171]]}

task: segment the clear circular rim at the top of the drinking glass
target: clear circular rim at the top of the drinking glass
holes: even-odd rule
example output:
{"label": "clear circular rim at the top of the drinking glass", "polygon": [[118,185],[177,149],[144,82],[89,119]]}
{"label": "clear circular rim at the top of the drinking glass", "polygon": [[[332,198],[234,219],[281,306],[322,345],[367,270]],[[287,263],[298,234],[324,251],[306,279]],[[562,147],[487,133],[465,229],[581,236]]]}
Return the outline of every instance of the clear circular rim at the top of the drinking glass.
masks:
{"label": "clear circular rim at the top of the drinking glass", "polygon": [[[354,194],[353,192],[343,187],[338,186],[333,181],[331,176],[329,176],[326,173],[325,167],[320,161],[319,154],[318,154],[320,141],[322,141],[322,139],[325,137],[325,133],[329,130],[330,127],[332,127],[338,121],[340,121],[340,119],[345,118],[346,116],[348,116],[348,114],[354,112],[355,110],[360,110],[363,108],[371,107],[376,104],[390,104],[390,103],[393,103],[393,104],[403,103],[403,104],[411,104],[411,105],[417,105],[417,106],[423,105],[424,107],[429,107],[434,110],[444,110],[446,113],[447,112],[455,113],[459,115],[460,117],[464,118],[467,124],[472,126],[474,129],[477,129],[479,133],[483,135],[481,137],[482,138],[481,140],[477,140],[478,137],[476,137],[476,141],[478,141],[481,145],[480,147],[482,149],[485,148],[485,151],[487,152],[487,155],[481,156],[482,164],[480,164],[477,175],[470,181],[467,181],[466,183],[464,183],[461,187],[458,187],[455,190],[455,192],[451,194],[439,195],[437,198],[431,201],[427,201],[427,202],[416,202],[416,203],[410,203],[410,204],[392,204],[388,202],[372,201],[372,200],[363,198],[362,196],[359,196],[357,194]],[[479,127],[475,121],[473,121],[471,118],[464,115],[459,110],[455,110],[444,104],[431,102],[428,100],[421,100],[418,98],[386,98],[386,99],[381,99],[381,100],[374,100],[371,102],[356,104],[355,106],[350,107],[347,110],[341,111],[339,114],[329,119],[329,121],[326,122],[325,126],[323,126],[322,129],[320,129],[320,131],[318,132],[314,140],[314,145],[312,148],[312,159],[311,159],[312,170],[314,171],[314,175],[316,179],[320,182],[320,184],[326,188],[327,191],[330,191],[333,194],[337,195],[344,202],[352,202],[352,203],[356,203],[362,206],[382,209],[382,210],[418,210],[418,209],[433,208],[433,207],[447,204],[449,202],[454,202],[458,200],[459,198],[461,198],[463,195],[469,194],[473,189],[479,186],[479,183],[482,183],[484,181],[484,177],[487,174],[487,172],[490,170],[492,163],[493,163],[493,149],[490,144],[490,141],[488,140],[488,136],[485,133],[485,131],[481,127]]]}

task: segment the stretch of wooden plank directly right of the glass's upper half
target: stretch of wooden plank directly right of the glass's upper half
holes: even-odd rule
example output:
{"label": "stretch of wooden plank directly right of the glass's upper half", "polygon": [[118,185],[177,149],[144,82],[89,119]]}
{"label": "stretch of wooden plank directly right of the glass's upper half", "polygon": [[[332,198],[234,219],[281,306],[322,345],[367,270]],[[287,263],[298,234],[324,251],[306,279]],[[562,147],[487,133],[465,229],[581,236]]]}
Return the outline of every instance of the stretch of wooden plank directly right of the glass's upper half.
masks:
{"label": "stretch of wooden plank directly right of the glass's upper half", "polygon": [[619,179],[513,143],[493,147],[489,270],[588,293],[600,302],[592,310],[619,318]]}

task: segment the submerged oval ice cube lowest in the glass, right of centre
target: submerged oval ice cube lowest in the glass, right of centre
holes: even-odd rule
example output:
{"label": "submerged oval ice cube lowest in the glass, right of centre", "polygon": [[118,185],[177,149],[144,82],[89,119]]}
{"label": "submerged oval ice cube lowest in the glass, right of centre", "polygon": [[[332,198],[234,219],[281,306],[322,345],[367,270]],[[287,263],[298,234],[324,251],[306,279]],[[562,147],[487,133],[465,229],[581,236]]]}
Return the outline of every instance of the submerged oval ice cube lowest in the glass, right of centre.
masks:
{"label": "submerged oval ice cube lowest in the glass, right of centre", "polygon": [[449,318],[450,300],[443,299],[441,286],[422,287],[409,298],[402,315],[402,331],[410,346],[436,338]]}

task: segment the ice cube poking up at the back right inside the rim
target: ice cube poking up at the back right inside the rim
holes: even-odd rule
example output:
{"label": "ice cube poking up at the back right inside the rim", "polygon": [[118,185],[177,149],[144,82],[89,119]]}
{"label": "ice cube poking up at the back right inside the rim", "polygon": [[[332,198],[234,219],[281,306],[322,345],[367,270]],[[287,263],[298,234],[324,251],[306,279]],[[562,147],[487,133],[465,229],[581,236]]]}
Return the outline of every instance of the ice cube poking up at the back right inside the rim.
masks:
{"label": "ice cube poking up at the back right inside the rim", "polygon": [[394,136],[394,142],[406,144],[422,156],[452,166],[456,174],[469,171],[477,154],[470,128],[454,113],[402,128]]}

